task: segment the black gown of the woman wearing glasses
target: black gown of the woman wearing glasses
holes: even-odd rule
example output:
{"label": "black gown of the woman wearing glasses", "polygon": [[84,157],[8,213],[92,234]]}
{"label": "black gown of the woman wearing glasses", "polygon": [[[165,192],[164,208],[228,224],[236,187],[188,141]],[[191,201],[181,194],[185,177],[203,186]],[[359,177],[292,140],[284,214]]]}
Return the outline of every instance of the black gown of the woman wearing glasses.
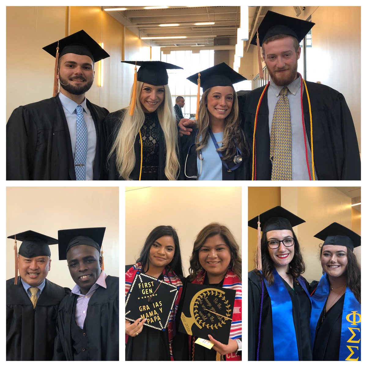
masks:
{"label": "black gown of the woman wearing glasses", "polygon": [[[255,270],[248,273],[248,360],[256,360],[258,345],[258,330],[261,304],[261,278]],[[306,287],[308,283],[305,280]],[[294,291],[284,281],[292,301],[292,314],[297,345],[285,345],[284,348],[297,348],[299,360],[312,360],[310,337],[310,312],[311,304],[303,288],[294,283]],[[281,321],[279,321],[281,322]],[[272,306],[269,293],[264,284],[264,301],[262,306],[262,319],[260,330],[259,360],[273,361],[273,321]]]}

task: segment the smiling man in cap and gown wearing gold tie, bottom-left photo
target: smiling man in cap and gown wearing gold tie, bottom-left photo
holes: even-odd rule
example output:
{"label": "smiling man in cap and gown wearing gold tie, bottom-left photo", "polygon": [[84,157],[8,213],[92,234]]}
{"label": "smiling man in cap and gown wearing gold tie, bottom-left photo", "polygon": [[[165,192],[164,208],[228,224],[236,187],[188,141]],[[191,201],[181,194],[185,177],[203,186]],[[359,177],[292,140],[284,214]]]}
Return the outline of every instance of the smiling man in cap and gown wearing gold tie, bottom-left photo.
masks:
{"label": "smiling man in cap and gown wearing gold tie, bottom-left photo", "polygon": [[6,281],[6,360],[52,360],[58,306],[70,293],[46,279],[48,245],[58,240],[32,230],[8,238],[22,244],[17,254],[15,241],[15,278]]}

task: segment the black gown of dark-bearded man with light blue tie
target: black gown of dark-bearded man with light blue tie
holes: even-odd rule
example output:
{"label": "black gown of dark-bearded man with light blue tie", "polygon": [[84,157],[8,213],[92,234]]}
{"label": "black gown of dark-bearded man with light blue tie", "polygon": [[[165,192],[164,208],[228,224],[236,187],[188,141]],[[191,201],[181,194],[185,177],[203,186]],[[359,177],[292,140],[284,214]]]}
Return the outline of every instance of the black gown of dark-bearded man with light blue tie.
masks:
{"label": "black gown of dark-bearded man with light blue tie", "polygon": [[[87,99],[97,133],[93,179],[105,163],[102,123],[108,110]],[[6,125],[7,180],[75,180],[68,123],[59,97],[16,108]]]}

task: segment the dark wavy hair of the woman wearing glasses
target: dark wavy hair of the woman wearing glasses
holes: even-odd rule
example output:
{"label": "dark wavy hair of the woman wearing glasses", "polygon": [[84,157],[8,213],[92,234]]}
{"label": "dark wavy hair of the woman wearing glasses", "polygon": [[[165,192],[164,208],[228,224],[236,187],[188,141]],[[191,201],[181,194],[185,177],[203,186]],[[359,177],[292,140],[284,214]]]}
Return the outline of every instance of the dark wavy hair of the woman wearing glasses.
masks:
{"label": "dark wavy hair of the woman wearing glasses", "polygon": [[[270,285],[274,283],[274,262],[269,255],[268,242],[266,239],[266,233],[262,234],[261,237],[261,261],[262,261],[262,273],[264,278],[269,282]],[[294,238],[294,255],[292,261],[289,263],[289,272],[293,279],[298,278],[302,273],[305,272],[306,267],[305,263],[302,259],[301,248],[299,247],[299,243],[295,233],[292,230],[292,236]]]}

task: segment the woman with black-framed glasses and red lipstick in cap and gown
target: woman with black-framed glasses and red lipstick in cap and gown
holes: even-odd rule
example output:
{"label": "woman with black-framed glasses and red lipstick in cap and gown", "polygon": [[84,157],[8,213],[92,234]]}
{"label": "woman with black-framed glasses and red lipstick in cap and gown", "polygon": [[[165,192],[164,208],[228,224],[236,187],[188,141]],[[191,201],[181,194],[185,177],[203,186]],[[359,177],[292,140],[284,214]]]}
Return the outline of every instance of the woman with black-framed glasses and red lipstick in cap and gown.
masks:
{"label": "woman with black-framed glasses and red lipstick in cap and gown", "polygon": [[248,273],[248,360],[312,360],[309,284],[292,228],[303,222],[280,206],[248,222],[258,238],[262,229]]}

